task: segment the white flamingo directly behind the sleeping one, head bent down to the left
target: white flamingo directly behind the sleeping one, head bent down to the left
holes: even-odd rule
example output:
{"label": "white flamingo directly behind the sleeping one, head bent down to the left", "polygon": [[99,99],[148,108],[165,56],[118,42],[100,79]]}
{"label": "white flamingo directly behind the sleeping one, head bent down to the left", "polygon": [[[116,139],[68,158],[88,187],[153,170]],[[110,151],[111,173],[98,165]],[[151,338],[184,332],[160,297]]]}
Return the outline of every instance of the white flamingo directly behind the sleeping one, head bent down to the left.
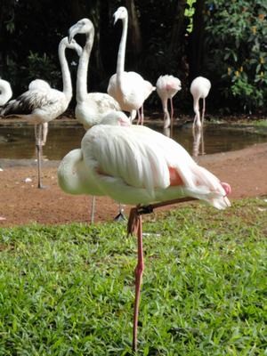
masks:
{"label": "white flamingo directly behind the sleeping one, head bent down to the left", "polygon": [[[88,130],[93,125],[97,125],[109,117],[109,113],[120,110],[117,101],[108,93],[87,93],[87,71],[90,54],[93,47],[94,27],[89,19],[77,21],[75,25],[69,28],[69,41],[77,34],[85,34],[85,46],[79,58],[77,69],[77,93],[75,116],[77,120]],[[92,198],[91,205],[91,223],[94,220],[95,197]],[[125,219],[122,206],[119,206],[119,212],[115,220]]]}

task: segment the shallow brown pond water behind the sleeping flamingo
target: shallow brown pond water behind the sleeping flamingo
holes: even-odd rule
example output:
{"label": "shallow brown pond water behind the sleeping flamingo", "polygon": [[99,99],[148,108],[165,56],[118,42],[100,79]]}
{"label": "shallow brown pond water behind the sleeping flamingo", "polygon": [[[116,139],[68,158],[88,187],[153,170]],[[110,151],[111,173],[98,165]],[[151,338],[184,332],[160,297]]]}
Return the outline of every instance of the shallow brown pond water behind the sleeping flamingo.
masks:
{"label": "shallow brown pond water behind the sleeping flamingo", "polygon": [[[161,128],[152,127],[158,132]],[[80,147],[85,130],[80,125],[50,125],[44,158],[59,160],[69,150]],[[203,138],[194,137],[190,125],[174,128],[174,140],[193,156],[240,150],[254,143],[267,142],[267,136],[254,134],[247,130],[234,129],[226,125],[206,125]],[[0,158],[36,158],[35,134],[33,125],[19,127],[0,126]]]}

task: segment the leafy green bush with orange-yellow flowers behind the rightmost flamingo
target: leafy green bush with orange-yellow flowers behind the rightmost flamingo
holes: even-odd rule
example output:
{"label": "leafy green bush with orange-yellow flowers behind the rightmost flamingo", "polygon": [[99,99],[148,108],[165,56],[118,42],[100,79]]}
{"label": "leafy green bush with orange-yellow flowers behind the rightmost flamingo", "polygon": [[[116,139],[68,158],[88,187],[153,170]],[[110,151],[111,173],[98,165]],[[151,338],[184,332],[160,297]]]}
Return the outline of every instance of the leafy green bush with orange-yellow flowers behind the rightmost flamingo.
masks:
{"label": "leafy green bush with orange-yellow flowers behind the rightmost flamingo", "polygon": [[[253,112],[267,97],[267,3],[207,2],[207,70],[221,82],[229,106]],[[227,106],[227,104],[226,104]]]}

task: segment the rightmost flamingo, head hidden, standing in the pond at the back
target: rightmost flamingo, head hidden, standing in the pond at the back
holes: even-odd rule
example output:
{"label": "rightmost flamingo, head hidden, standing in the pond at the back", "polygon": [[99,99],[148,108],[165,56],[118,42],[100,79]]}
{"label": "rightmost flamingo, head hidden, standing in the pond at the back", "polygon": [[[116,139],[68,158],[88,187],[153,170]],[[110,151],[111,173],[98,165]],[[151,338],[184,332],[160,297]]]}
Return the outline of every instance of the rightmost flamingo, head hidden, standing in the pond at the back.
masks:
{"label": "rightmost flamingo, head hidden, standing in the pond at the back", "polygon": [[[195,112],[193,127],[197,125],[197,127],[200,128],[204,124],[206,97],[210,91],[210,88],[211,88],[211,83],[206,77],[196,77],[190,85],[190,93],[193,96],[194,112]],[[200,99],[203,100],[201,120],[200,120],[200,113],[199,113]]]}

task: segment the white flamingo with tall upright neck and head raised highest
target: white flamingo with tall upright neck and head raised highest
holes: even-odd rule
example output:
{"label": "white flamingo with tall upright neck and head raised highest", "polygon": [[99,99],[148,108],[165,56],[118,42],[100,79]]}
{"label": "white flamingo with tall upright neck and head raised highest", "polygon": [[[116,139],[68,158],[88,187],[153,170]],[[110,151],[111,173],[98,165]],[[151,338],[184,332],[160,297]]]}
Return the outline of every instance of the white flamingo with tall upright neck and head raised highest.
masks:
{"label": "white flamingo with tall upright neck and head raised highest", "polygon": [[[123,30],[117,53],[117,72],[109,79],[108,93],[119,103],[121,109],[131,113],[133,121],[138,113],[137,124],[143,124],[143,102],[156,87],[136,72],[125,72],[125,47],[128,28],[128,12],[120,6],[114,13],[114,24],[122,20]],[[141,112],[140,112],[141,110]]]}

